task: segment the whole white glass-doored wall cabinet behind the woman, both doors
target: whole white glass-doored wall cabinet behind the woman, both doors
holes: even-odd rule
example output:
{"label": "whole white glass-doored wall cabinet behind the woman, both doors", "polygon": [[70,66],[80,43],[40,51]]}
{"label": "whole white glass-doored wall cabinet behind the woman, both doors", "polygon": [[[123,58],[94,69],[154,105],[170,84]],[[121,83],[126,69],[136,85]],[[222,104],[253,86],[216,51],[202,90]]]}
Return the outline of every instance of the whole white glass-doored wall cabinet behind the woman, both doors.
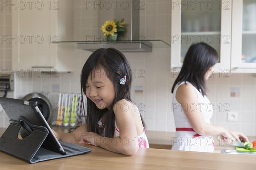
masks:
{"label": "whole white glass-doored wall cabinet behind the woman, both doors", "polygon": [[253,0],[173,0],[171,69],[181,68],[189,46],[203,41],[219,54],[215,72],[255,73],[255,3]]}

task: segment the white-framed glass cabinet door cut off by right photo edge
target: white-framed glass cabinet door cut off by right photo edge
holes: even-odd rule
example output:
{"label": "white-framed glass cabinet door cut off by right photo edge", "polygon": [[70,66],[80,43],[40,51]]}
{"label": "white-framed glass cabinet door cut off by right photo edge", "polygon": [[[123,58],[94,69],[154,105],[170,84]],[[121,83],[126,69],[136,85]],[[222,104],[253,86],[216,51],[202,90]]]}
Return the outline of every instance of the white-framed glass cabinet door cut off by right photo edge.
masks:
{"label": "white-framed glass cabinet door cut off by right photo edge", "polygon": [[231,72],[256,72],[255,0],[233,0]]}

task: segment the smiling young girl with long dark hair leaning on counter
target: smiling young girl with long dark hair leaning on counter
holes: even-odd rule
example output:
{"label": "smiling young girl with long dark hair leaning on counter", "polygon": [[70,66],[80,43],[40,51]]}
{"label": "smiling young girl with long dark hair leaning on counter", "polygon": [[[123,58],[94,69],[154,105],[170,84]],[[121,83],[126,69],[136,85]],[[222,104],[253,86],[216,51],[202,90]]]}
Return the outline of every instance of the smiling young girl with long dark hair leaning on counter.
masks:
{"label": "smiling young girl with long dark hair leaning on counter", "polygon": [[116,49],[97,49],[81,71],[81,93],[87,97],[85,124],[72,133],[57,133],[59,140],[90,143],[131,156],[149,148],[145,124],[131,102],[131,68]]}

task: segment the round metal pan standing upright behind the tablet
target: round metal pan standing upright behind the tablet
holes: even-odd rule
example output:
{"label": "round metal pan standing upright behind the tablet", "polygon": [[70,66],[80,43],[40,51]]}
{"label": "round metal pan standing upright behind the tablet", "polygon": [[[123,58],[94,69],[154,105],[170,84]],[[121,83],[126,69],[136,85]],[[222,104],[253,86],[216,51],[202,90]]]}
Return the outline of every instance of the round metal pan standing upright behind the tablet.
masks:
{"label": "round metal pan standing upright behind the tablet", "polygon": [[26,95],[23,98],[24,101],[34,101],[38,108],[40,109],[41,113],[43,114],[46,121],[49,123],[52,119],[52,105],[49,101],[49,99],[38,92],[33,92],[28,95]]}

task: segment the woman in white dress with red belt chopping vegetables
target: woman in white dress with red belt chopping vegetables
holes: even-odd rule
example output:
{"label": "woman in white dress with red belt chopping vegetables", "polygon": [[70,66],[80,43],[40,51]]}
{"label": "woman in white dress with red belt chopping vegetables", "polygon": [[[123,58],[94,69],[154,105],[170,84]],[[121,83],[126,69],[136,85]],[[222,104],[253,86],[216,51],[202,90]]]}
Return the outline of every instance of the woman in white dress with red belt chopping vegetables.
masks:
{"label": "woman in white dress with red belt chopping vegetables", "polygon": [[212,67],[217,62],[218,54],[208,44],[197,43],[189,47],[172,86],[176,126],[172,150],[213,152],[215,144],[212,135],[219,134],[226,144],[235,140],[248,141],[243,133],[210,124],[212,104],[205,95],[205,81],[211,76]]}

